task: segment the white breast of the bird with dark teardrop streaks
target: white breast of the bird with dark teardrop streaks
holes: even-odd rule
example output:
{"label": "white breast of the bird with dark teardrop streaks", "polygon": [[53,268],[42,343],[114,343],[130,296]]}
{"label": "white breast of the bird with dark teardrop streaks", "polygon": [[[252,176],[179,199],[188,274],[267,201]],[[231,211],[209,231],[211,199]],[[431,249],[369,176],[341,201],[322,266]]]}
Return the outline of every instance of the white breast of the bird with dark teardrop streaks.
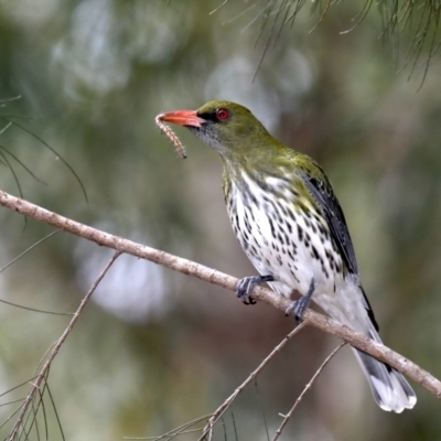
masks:
{"label": "white breast of the bird with dark teardrop streaks", "polygon": [[[286,295],[318,290],[335,291],[343,263],[330,229],[295,183],[269,176],[262,182],[243,174],[224,186],[233,229],[260,275],[272,275],[273,288]],[[338,277],[340,275],[340,277]]]}

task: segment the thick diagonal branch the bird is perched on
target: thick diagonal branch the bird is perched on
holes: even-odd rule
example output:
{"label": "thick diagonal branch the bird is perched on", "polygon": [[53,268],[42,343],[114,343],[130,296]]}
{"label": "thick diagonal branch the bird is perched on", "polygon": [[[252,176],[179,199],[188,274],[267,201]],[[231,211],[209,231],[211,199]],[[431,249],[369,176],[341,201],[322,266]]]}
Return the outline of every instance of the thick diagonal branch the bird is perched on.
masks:
{"label": "thick diagonal branch the bird is perched on", "polygon": [[[44,222],[54,227],[61,228],[65,232],[80,236],[87,240],[95,241],[100,246],[112,248],[120,252],[126,252],[154,263],[162,265],[174,271],[184,275],[196,277],[197,279],[217,284],[219,287],[236,290],[238,279],[219,272],[215,269],[204,267],[194,261],[173,256],[169,252],[160,251],[158,249],[137,244],[135,241],[110,235],[108,233],[98,230],[69,218],[63,217],[56,213],[41,208],[22,198],[12,196],[6,192],[0,191],[0,205],[13,209],[24,216],[32,217],[35,220]],[[276,292],[256,287],[252,290],[252,297],[256,300],[262,301],[286,311],[291,301]],[[320,330],[342,338],[352,346],[355,346],[375,358],[388,363],[397,370],[412,378],[420,384],[438,399],[441,399],[441,381],[430,375],[427,370],[422,369],[411,361],[405,358],[402,355],[391,351],[390,348],[367,338],[365,335],[351,330],[349,327],[337,323],[336,321],[319,314],[311,309],[304,314],[304,323],[319,327]]]}

